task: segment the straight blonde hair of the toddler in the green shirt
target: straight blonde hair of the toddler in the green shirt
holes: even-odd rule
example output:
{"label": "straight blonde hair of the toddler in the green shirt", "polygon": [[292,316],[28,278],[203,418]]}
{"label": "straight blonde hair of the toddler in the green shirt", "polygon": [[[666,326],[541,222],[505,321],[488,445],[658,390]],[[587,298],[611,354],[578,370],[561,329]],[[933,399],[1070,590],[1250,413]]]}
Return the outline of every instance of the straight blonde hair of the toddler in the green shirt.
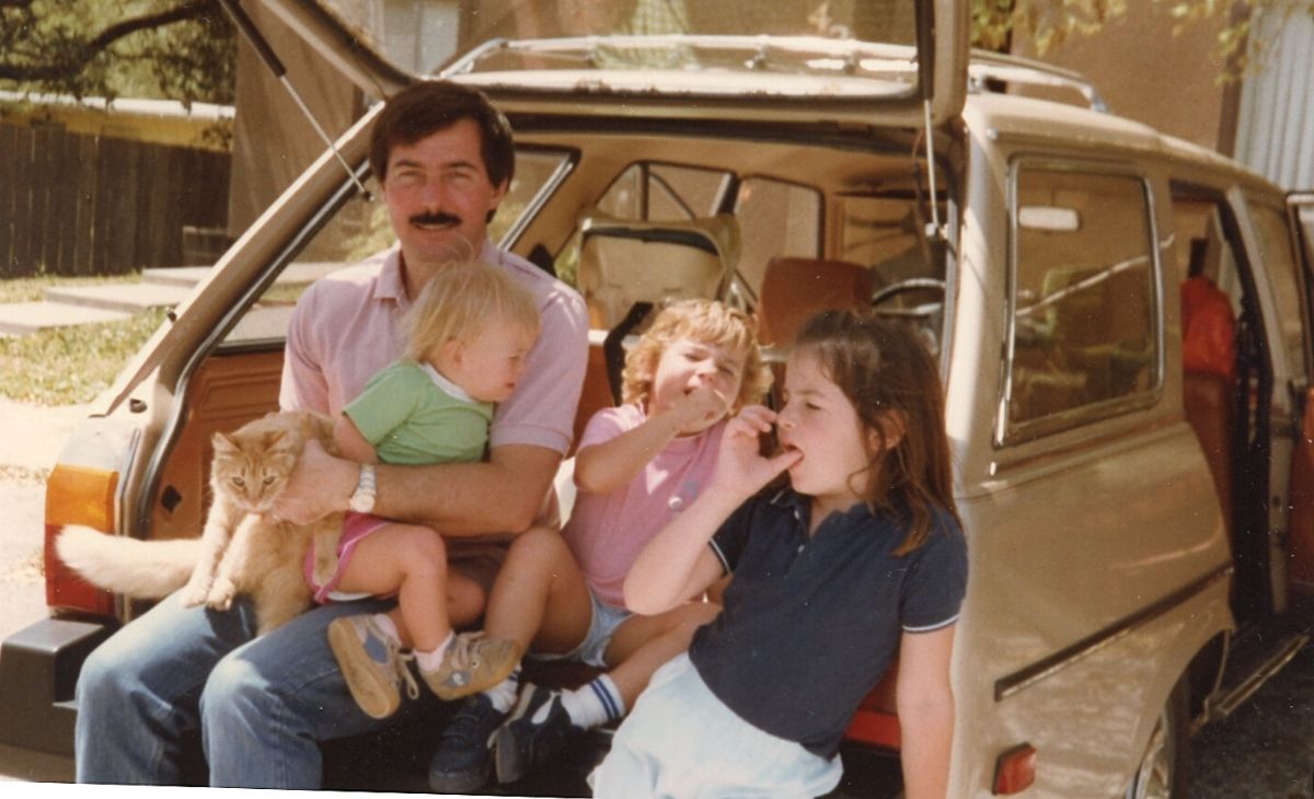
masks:
{"label": "straight blonde hair of the toddler in the green shirt", "polygon": [[482,260],[447,264],[428,279],[402,319],[403,356],[426,360],[436,347],[469,340],[498,317],[539,331],[533,296],[505,271]]}

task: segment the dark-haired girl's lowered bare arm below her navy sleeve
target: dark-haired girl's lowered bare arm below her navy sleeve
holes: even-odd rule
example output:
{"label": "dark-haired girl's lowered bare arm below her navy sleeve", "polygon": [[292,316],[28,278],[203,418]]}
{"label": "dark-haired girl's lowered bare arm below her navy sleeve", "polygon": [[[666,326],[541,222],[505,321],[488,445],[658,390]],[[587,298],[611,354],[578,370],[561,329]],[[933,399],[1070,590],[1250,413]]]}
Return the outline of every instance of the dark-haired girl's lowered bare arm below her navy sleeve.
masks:
{"label": "dark-haired girl's lowered bare arm below her navy sleeve", "polygon": [[949,758],[954,741],[954,691],[949,658],[954,628],[905,632],[899,641],[900,761],[907,799],[943,799],[949,791]]}

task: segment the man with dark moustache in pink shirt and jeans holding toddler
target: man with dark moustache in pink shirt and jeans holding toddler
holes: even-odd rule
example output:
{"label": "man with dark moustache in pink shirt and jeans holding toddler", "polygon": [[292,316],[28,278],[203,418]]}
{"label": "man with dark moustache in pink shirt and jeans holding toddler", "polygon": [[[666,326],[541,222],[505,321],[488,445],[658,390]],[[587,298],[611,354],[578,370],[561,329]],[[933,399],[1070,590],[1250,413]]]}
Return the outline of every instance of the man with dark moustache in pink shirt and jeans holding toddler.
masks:
{"label": "man with dark moustache in pink shirt and jeans holding toddler", "polygon": [[[372,505],[376,515],[470,540],[494,534],[505,540],[539,515],[570,444],[587,323],[578,294],[487,242],[486,223],[506,194],[514,159],[506,118],[473,89],[422,83],[388,101],[372,131],[371,167],[399,246],[306,292],[289,327],[280,396],[284,409],[336,415],[399,355],[398,319],[419,288],[445,263],[480,255],[530,288],[541,318],[528,368],[498,406],[489,457],[378,467],[371,481],[368,469],[311,448],[280,515],[305,522]],[[499,553],[490,545],[460,560],[453,553],[452,568],[485,586],[452,608],[453,623],[482,611]],[[251,640],[248,605],[215,612],[183,608],[176,595],[160,602],[83,666],[78,781],[176,785],[187,741],[198,733],[210,785],[319,787],[319,741],[386,724],[363,714],[347,693],[326,628],[336,616],[386,607],[327,605]]]}

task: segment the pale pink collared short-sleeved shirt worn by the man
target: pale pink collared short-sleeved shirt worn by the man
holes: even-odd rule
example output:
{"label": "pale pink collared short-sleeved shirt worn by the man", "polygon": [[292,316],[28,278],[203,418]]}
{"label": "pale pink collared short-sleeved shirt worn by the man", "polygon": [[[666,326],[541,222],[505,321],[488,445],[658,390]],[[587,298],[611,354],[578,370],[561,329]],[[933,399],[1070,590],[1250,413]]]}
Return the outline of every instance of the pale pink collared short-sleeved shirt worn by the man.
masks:
{"label": "pale pink collared short-sleeved shirt worn by the man", "polygon": [[[315,281],[292,313],[279,405],[336,418],[376,372],[402,354],[410,306],[398,247]],[[539,306],[539,339],[515,393],[499,403],[489,445],[533,444],[565,455],[589,347],[583,300],[530,262],[485,243],[480,256],[510,272]]]}

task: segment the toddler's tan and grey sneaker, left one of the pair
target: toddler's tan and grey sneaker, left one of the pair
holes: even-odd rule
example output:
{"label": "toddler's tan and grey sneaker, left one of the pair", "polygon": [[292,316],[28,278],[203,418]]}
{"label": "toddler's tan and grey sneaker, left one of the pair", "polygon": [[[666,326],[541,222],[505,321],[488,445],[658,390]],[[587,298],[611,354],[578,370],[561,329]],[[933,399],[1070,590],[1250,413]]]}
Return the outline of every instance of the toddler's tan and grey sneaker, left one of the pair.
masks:
{"label": "toddler's tan and grey sneaker, left one of the pair", "polygon": [[419,685],[406,668],[414,656],[403,654],[369,614],[339,616],[328,623],[328,648],[347,681],[347,690],[372,719],[386,719],[401,707],[399,686],[419,696]]}

